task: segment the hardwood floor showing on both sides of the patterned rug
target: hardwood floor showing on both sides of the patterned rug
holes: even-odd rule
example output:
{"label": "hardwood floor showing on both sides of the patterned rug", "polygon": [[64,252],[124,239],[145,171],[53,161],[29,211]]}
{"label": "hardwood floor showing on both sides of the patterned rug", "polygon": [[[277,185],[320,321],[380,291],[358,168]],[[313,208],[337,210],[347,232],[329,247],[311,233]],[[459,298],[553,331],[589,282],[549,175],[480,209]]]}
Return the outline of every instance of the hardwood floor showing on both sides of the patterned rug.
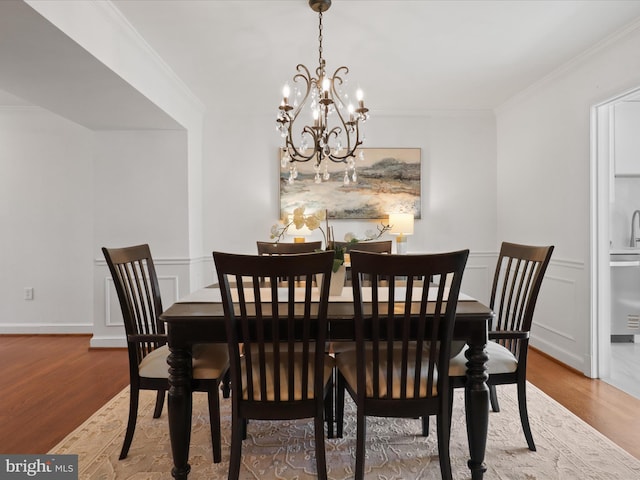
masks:
{"label": "hardwood floor showing on both sides of the patterned rug", "polygon": [[[0,336],[0,453],[48,452],[128,384],[126,350],[92,350],[89,338]],[[640,459],[640,400],[534,349],[528,377]]]}

